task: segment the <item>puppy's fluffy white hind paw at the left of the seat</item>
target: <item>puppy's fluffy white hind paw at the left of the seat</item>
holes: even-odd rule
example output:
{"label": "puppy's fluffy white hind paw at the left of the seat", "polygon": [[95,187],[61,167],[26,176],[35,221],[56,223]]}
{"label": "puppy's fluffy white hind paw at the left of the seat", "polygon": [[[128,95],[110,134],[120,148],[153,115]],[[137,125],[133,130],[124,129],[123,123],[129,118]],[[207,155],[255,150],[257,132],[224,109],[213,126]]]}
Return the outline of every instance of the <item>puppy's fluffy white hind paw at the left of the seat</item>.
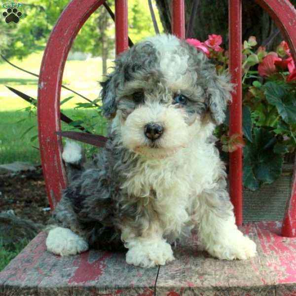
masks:
{"label": "puppy's fluffy white hind paw at the left of the seat", "polygon": [[56,255],[70,256],[86,251],[88,244],[82,237],[70,229],[56,227],[48,233],[46,248]]}

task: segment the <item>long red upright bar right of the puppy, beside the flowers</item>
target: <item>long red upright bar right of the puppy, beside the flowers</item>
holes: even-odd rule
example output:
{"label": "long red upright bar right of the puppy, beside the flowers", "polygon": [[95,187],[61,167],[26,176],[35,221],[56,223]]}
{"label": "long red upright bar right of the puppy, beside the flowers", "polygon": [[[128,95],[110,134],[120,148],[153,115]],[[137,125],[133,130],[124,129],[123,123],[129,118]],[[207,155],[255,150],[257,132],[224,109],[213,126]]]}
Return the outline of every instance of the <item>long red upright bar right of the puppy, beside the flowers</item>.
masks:
{"label": "long red upright bar right of the puppy, beside the flowers", "polygon": [[[229,0],[229,72],[235,84],[229,106],[229,135],[242,135],[242,3]],[[237,225],[243,222],[242,149],[229,153],[229,194]]]}

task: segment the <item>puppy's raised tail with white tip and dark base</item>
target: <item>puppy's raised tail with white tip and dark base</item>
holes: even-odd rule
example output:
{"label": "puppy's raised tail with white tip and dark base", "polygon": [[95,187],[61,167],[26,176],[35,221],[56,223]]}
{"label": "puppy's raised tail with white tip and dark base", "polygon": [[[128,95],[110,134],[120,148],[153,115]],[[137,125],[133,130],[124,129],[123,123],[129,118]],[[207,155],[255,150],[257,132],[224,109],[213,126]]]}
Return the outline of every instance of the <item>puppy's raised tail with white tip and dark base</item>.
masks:
{"label": "puppy's raised tail with white tip and dark base", "polygon": [[86,158],[80,145],[75,142],[66,142],[62,158],[66,163],[68,181],[75,179],[81,174]]}

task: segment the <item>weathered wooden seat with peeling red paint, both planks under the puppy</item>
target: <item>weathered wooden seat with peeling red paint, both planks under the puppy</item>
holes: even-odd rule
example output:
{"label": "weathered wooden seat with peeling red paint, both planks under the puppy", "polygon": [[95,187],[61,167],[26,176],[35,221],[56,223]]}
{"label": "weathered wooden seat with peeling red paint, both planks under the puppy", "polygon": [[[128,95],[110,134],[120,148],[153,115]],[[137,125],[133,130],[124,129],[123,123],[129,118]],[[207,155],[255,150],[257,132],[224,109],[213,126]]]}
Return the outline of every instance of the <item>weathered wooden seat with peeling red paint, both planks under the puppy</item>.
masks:
{"label": "weathered wooden seat with peeling red paint, both planks under the puppy", "polygon": [[[176,260],[160,267],[157,296],[296,296],[296,238],[280,236],[281,222],[242,226],[258,256],[219,260],[196,235],[174,248]],[[128,265],[124,253],[90,250],[71,257],[45,250],[40,233],[0,273],[1,296],[153,296],[157,268]]]}

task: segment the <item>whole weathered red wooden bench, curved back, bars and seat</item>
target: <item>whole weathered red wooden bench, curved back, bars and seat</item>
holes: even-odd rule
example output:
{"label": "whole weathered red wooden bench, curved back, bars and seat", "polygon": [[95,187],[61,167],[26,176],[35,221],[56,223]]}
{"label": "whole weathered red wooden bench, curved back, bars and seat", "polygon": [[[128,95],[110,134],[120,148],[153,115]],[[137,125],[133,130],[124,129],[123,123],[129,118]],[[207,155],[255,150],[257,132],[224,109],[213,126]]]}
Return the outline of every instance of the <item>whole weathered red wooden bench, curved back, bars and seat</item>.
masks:
{"label": "whole weathered red wooden bench, curved back, bars and seat", "polygon": [[[61,159],[60,91],[63,70],[74,37],[105,0],[72,0],[59,18],[46,47],[38,84],[38,127],[43,174],[50,206],[66,186]],[[296,10],[288,0],[256,0],[274,19],[296,60]],[[184,0],[172,0],[172,31],[185,37]],[[127,0],[115,0],[116,54],[127,49]],[[232,82],[230,134],[241,134],[241,0],[229,0],[229,51]],[[196,236],[177,245],[176,260],[144,269],[125,263],[124,253],[90,250],[59,257],[45,250],[45,233],[37,237],[0,273],[0,295],[296,295],[296,174],[283,222],[242,226],[242,151],[230,153],[229,188],[236,222],[258,246],[245,261],[211,258]],[[289,238],[288,238],[289,237]]]}

